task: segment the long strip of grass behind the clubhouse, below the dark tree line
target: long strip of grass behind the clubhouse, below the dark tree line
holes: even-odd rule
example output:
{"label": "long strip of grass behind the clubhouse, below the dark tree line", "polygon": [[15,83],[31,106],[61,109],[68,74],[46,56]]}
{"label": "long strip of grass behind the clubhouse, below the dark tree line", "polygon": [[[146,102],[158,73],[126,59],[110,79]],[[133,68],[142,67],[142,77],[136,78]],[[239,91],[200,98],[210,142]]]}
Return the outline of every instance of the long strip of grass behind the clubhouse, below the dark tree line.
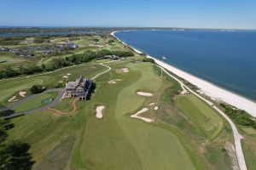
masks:
{"label": "long strip of grass behind the clubhouse, below the dark tree line", "polygon": [[73,66],[69,68],[64,68],[58,71],[49,72],[41,76],[35,77],[22,77],[18,79],[9,79],[0,81],[0,103],[6,101],[14,96],[15,93],[19,92],[20,90],[32,88],[32,85],[41,84],[44,86],[55,87],[58,82],[66,82],[66,79],[63,78],[67,76],[67,74],[71,74],[68,76],[68,81],[73,81],[74,79],[78,78],[79,76],[86,76],[86,77],[94,77],[101,71],[105,71],[108,68],[102,65],[79,65]]}

